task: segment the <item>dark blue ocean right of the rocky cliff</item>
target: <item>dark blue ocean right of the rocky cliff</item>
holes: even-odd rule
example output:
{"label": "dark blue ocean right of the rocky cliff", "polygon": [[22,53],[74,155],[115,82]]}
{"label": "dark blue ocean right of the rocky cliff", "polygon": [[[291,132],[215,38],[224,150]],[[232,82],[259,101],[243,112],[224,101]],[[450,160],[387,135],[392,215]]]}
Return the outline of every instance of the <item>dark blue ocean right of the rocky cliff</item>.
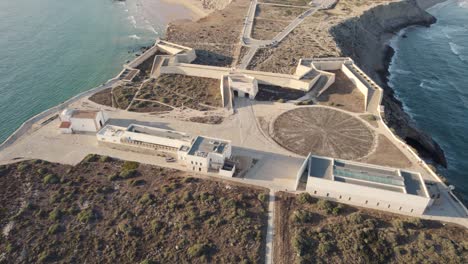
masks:
{"label": "dark blue ocean right of the rocky cliff", "polygon": [[436,24],[407,28],[392,40],[389,84],[417,126],[441,145],[448,168],[440,172],[468,200],[468,1],[428,11]]}

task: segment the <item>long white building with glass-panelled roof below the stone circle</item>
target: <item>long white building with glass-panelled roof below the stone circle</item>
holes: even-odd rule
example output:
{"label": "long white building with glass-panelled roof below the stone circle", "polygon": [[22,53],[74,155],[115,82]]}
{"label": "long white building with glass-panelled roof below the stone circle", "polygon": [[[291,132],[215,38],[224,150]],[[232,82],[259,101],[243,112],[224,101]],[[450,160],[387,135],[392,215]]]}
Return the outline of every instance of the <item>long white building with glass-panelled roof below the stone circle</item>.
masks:
{"label": "long white building with glass-panelled roof below the stone circle", "polygon": [[433,202],[420,173],[314,155],[301,167],[297,186],[338,202],[415,215]]}

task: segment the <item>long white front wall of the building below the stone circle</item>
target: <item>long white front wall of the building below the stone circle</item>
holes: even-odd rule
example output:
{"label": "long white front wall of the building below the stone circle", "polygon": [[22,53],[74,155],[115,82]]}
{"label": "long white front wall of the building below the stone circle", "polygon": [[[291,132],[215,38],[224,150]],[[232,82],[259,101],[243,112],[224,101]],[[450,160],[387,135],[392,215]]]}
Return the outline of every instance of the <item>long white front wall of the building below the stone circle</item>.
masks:
{"label": "long white front wall of the building below the stone circle", "polygon": [[311,195],[338,202],[414,215],[422,215],[431,201],[430,198],[417,195],[397,193],[315,177],[307,179],[306,190]]}

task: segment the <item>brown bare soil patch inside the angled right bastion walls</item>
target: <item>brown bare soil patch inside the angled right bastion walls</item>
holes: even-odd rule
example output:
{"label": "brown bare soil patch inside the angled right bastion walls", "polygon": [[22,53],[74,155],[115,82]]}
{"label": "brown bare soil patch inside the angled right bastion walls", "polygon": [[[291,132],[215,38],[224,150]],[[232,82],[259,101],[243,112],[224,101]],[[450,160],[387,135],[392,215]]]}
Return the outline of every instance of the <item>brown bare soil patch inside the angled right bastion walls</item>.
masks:
{"label": "brown bare soil patch inside the angled right bastion walls", "polygon": [[365,112],[364,95],[356,85],[341,70],[330,72],[335,74],[335,82],[317,98],[320,104],[355,113]]}

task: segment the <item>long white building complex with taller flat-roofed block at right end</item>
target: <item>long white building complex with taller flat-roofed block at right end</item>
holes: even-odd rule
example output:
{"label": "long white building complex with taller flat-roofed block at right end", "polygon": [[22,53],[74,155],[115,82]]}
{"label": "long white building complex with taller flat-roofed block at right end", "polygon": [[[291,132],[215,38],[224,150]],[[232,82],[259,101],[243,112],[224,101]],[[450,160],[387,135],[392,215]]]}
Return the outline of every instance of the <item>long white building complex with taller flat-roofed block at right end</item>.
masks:
{"label": "long white building complex with taller flat-roofed block at right end", "polygon": [[192,171],[218,172],[228,177],[235,171],[235,165],[228,162],[232,151],[229,141],[140,125],[128,128],[107,125],[96,136],[103,146],[172,156]]}

